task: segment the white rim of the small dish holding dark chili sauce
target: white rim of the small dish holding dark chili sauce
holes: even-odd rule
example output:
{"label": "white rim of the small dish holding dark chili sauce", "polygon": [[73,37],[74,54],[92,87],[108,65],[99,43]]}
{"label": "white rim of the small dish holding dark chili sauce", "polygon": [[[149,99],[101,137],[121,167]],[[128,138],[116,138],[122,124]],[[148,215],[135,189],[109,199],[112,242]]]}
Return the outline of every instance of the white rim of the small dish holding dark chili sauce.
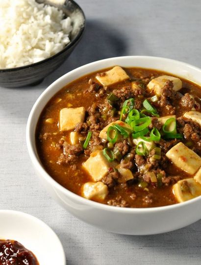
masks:
{"label": "white rim of the small dish holding dark chili sauce", "polygon": [[[61,259],[63,260],[62,265],[66,265],[66,255],[65,255],[65,252],[64,252],[63,245],[62,245],[60,239],[58,238],[57,234],[44,221],[42,221],[41,219],[39,219],[37,217],[29,215],[27,213],[24,213],[24,212],[21,212],[21,211],[16,211],[16,210],[0,210],[0,216],[1,215],[10,215],[12,217],[13,216],[19,216],[19,217],[22,217],[24,219],[27,219],[28,221],[31,221],[31,222],[35,223],[36,225],[42,227],[42,229],[45,229],[49,234],[51,234],[51,236],[54,237],[54,243],[56,243],[58,245],[58,247],[60,248],[60,250],[61,250],[60,255],[62,255]],[[10,239],[10,240],[15,240],[15,239]]]}

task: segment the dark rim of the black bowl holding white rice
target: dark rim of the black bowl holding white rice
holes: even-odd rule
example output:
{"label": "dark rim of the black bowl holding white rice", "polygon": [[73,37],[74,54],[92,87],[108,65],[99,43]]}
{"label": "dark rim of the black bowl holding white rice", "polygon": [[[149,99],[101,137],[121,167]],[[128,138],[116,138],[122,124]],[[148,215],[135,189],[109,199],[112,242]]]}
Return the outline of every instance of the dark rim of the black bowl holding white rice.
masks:
{"label": "dark rim of the black bowl holding white rice", "polygon": [[74,0],[71,0],[71,2],[73,4],[75,4],[75,6],[79,9],[79,11],[82,13],[83,15],[83,24],[82,26],[80,26],[80,29],[79,29],[79,32],[77,34],[77,36],[75,37],[75,39],[73,41],[71,41],[69,44],[67,44],[62,50],[60,50],[59,52],[57,52],[56,54],[48,57],[47,59],[44,59],[42,61],[39,61],[37,63],[34,63],[34,64],[29,64],[29,65],[25,65],[25,66],[21,66],[21,67],[15,67],[15,68],[8,68],[8,69],[0,69],[0,72],[14,72],[14,71],[18,71],[18,70],[23,70],[23,69],[27,69],[27,68],[30,68],[32,66],[35,66],[35,65],[40,65],[40,64],[43,64],[53,58],[55,58],[56,56],[62,54],[65,50],[71,48],[72,46],[74,46],[74,44],[77,42],[77,40],[81,37],[84,29],[85,29],[85,26],[86,26],[86,18],[85,18],[85,15],[84,15],[84,12],[83,10],[81,9],[81,7],[74,1]]}

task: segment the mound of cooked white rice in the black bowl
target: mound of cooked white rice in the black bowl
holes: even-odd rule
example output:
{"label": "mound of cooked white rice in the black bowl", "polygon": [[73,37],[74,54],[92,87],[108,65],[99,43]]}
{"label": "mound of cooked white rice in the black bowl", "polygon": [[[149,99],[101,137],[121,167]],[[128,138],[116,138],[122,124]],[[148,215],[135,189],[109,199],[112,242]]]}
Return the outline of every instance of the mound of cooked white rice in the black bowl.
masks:
{"label": "mound of cooked white rice in the black bowl", "polygon": [[0,69],[44,60],[69,42],[71,19],[35,0],[0,0]]}

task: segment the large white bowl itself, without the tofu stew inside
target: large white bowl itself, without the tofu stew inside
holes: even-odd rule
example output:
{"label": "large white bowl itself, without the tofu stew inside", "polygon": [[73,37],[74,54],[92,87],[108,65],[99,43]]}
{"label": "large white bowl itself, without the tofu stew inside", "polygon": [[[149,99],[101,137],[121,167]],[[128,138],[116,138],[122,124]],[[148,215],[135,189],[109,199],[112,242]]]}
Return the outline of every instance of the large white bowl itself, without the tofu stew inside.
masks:
{"label": "large white bowl itself, without the tofu stew inside", "polygon": [[172,231],[201,218],[201,196],[156,208],[118,208],[100,204],[72,193],[54,181],[43,168],[35,145],[35,129],[39,116],[56,92],[71,81],[90,72],[120,65],[170,72],[201,84],[201,69],[179,61],[150,57],[125,56],[105,59],[81,66],[53,82],[34,104],[26,127],[26,142],[32,164],[50,195],[66,210],[83,221],[104,230],[128,235],[150,235]]}

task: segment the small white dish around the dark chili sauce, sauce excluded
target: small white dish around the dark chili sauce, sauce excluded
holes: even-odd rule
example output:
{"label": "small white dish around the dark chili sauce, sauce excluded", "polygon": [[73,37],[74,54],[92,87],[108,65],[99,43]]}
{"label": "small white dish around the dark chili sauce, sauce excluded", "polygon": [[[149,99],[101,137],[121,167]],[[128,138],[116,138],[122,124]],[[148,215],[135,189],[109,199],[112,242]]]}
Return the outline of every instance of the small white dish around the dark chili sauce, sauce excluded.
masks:
{"label": "small white dish around the dark chili sauce, sauce excluded", "polygon": [[61,242],[51,228],[22,212],[0,210],[0,239],[19,241],[40,265],[66,265]]}

